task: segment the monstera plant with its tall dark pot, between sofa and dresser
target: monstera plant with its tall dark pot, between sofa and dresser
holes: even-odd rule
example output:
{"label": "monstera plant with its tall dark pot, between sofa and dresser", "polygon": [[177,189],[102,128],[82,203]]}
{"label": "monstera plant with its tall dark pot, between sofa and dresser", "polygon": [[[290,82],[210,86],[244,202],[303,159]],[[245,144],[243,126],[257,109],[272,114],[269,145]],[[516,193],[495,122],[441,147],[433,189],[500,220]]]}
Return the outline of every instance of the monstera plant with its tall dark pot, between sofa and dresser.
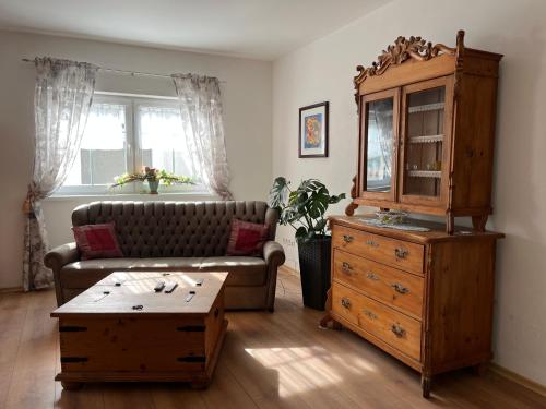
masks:
{"label": "monstera plant with its tall dark pot, between sofa and dresser", "polygon": [[330,195],[317,179],[304,180],[296,190],[292,190],[289,183],[283,177],[275,179],[269,205],[278,210],[280,225],[289,225],[296,230],[304,305],[324,310],[332,248],[324,214],[329,205],[345,199],[345,193]]}

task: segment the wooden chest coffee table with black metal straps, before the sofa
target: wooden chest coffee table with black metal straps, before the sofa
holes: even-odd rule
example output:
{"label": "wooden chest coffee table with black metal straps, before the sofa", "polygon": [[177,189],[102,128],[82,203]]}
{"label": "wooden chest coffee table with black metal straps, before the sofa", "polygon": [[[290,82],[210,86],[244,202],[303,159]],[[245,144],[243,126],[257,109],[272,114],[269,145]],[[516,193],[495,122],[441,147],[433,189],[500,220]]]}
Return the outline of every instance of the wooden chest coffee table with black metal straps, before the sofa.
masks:
{"label": "wooden chest coffee table with black metal straps, before the sofa", "polygon": [[[112,273],[51,313],[59,318],[61,381],[190,382],[206,387],[227,321],[227,273]],[[176,281],[171,293],[157,281]]]}

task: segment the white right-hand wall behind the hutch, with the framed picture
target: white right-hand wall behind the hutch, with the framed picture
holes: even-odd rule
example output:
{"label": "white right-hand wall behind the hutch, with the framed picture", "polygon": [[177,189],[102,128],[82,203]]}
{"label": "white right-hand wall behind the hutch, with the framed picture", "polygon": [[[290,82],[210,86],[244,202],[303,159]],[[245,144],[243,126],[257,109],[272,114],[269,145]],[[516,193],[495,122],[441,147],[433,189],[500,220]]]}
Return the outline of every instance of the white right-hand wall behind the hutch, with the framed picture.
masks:
{"label": "white right-hand wall behind the hutch, with the framed picture", "polygon": [[[498,245],[495,360],[546,384],[546,2],[536,0],[394,1],[276,60],[273,65],[273,176],[319,178],[335,193],[356,171],[355,67],[376,59],[399,35],[505,55],[495,165]],[[298,159],[298,108],[330,101],[330,157]],[[344,205],[333,208],[343,213]],[[278,229],[285,243],[294,234]],[[287,246],[296,265],[296,248]]]}

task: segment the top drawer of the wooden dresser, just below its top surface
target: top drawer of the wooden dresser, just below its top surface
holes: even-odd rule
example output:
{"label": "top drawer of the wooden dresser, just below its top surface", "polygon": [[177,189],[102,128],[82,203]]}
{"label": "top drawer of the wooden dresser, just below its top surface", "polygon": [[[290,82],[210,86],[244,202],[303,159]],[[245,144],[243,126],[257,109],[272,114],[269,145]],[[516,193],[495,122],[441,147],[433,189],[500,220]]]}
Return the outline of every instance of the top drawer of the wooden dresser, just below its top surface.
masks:
{"label": "top drawer of the wooden dresser, just below its top surface", "polygon": [[334,225],[333,248],[423,275],[425,248],[420,244]]}

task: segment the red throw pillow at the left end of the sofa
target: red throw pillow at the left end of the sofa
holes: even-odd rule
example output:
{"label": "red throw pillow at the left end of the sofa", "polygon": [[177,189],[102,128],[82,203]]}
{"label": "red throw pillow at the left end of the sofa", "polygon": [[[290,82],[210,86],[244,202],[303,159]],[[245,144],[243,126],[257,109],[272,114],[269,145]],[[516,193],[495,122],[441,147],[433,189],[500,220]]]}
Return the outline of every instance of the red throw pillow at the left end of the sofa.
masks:
{"label": "red throw pillow at the left end of the sofa", "polygon": [[82,253],[82,260],[122,257],[116,238],[115,225],[85,225],[73,227],[74,239]]}

